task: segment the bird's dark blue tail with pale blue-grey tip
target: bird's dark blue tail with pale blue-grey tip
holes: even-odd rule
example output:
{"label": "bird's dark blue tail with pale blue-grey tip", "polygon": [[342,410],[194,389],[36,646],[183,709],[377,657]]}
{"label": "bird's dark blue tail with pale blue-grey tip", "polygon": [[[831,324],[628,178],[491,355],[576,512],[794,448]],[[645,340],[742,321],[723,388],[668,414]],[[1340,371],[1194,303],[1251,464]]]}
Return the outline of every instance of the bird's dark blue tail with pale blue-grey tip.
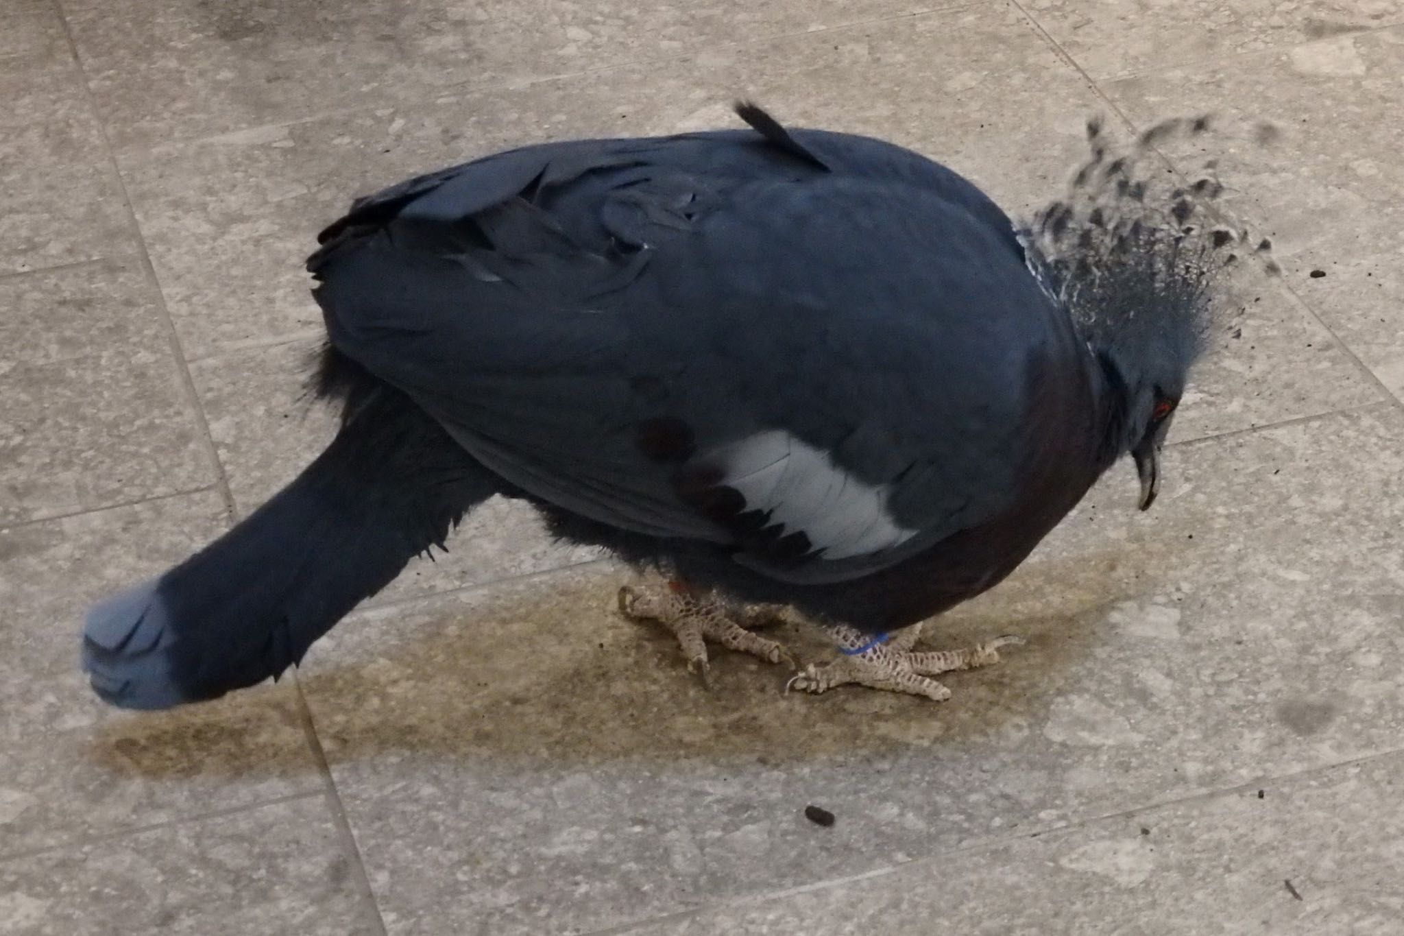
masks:
{"label": "bird's dark blue tail with pale blue-grey tip", "polygon": [[166,709],[278,676],[497,490],[407,397],[362,393],[306,470],[220,539],[87,615],[102,699]]}

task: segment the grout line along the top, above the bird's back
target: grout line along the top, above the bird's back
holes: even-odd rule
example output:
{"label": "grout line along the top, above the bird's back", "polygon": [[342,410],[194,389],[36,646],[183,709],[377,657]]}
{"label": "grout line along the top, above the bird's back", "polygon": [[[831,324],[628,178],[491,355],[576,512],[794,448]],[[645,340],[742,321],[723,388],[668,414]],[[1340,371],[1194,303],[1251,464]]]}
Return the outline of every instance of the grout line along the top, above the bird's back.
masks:
{"label": "grout line along the top, above the bird's back", "polygon": [[[55,0],[55,1],[59,1],[59,0]],[[865,27],[876,27],[876,25],[883,25],[883,24],[890,24],[890,22],[901,22],[903,20],[918,20],[918,18],[922,18],[922,17],[934,17],[934,15],[943,14],[943,13],[955,13],[958,10],[970,10],[970,8],[983,7],[983,6],[984,4],[981,4],[980,0],[955,0],[949,6],[929,7],[929,8],[914,10],[914,11],[907,11],[907,13],[900,13],[900,14],[886,15],[886,17],[873,17],[873,18],[869,18],[869,20],[854,20],[852,22],[841,22],[841,24],[835,24],[835,25],[821,27],[821,28],[817,28],[817,29],[806,29],[806,31],[799,31],[799,32],[776,32],[775,35],[762,35],[762,36],[751,38],[751,39],[736,39],[736,41],[731,41],[731,42],[724,42],[724,44],[722,44],[719,46],[709,46],[705,51],[744,49],[744,48],[748,48],[748,46],[758,46],[758,45],[764,45],[764,44],[768,44],[768,42],[786,42],[786,41],[790,41],[790,39],[802,39],[804,36],[827,35],[830,32],[842,32],[845,29],[861,29],[861,28],[865,28]],[[197,135],[197,136],[188,136],[188,138],[176,138],[176,139],[171,139],[171,140],[166,140],[163,143],[146,145],[146,146],[138,147],[135,150],[125,150],[122,153],[118,153],[117,159],[119,161],[119,166],[121,164],[126,164],[128,167],[138,167],[138,166],[153,163],[153,161],[157,161],[159,159],[161,159],[160,154],[159,154],[159,152],[161,152],[161,150],[176,150],[176,149],[185,150],[185,149],[190,149],[190,147],[194,147],[194,146],[201,146],[201,145],[205,145],[205,143],[215,143],[215,142],[219,142],[219,140],[223,140],[223,139],[241,136],[244,133],[256,133],[258,131],[270,131],[270,129],[278,129],[278,128],[302,126],[305,123],[313,123],[316,121],[351,116],[351,115],[357,115],[357,114],[373,114],[375,111],[380,111],[380,109],[385,109],[385,108],[392,108],[392,109],[420,108],[420,107],[431,105],[435,101],[439,101],[442,98],[462,95],[462,94],[493,94],[493,93],[500,93],[500,91],[517,91],[517,90],[522,90],[522,88],[535,87],[538,84],[550,84],[553,81],[566,81],[566,80],[570,80],[570,79],[584,79],[584,77],[591,77],[591,76],[597,76],[597,74],[605,74],[605,73],[609,73],[609,72],[622,72],[625,69],[633,69],[633,67],[646,67],[646,66],[656,66],[656,65],[667,65],[670,62],[682,62],[682,60],[685,60],[688,58],[696,58],[702,52],[703,52],[703,49],[692,49],[692,51],[687,51],[687,52],[678,52],[677,55],[660,55],[660,56],[656,56],[656,58],[625,59],[625,60],[621,60],[621,62],[614,62],[611,65],[601,65],[598,67],[584,69],[584,70],[580,70],[580,72],[560,72],[560,73],[553,73],[553,74],[541,74],[541,76],[534,76],[534,77],[528,77],[528,79],[515,79],[515,80],[507,80],[507,81],[489,81],[489,83],[483,83],[483,84],[475,84],[472,80],[469,80],[469,81],[459,81],[458,84],[446,84],[446,86],[434,88],[432,94],[424,94],[423,97],[411,97],[411,98],[407,98],[404,101],[395,101],[395,102],[389,102],[389,104],[382,102],[382,104],[378,104],[378,105],[359,104],[359,105],[354,105],[354,107],[343,107],[343,108],[334,108],[334,109],[330,109],[330,111],[320,111],[317,114],[310,114],[310,115],[306,115],[306,116],[289,118],[289,119],[285,119],[285,121],[272,121],[270,123],[256,123],[256,125],[241,126],[241,128],[230,129],[230,131],[219,131],[218,133],[205,133],[205,135]]]}

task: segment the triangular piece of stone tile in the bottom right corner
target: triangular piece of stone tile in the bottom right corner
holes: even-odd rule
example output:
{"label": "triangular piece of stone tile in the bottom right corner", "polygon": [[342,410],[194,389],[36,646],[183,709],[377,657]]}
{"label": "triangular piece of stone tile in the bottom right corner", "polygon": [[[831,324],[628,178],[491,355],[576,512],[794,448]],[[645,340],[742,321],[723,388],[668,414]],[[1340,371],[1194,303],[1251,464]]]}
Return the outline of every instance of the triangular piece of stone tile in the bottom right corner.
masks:
{"label": "triangular piece of stone tile in the bottom right corner", "polygon": [[1327,769],[1261,798],[1236,790],[628,932],[1384,936],[1404,914],[1401,768]]}

